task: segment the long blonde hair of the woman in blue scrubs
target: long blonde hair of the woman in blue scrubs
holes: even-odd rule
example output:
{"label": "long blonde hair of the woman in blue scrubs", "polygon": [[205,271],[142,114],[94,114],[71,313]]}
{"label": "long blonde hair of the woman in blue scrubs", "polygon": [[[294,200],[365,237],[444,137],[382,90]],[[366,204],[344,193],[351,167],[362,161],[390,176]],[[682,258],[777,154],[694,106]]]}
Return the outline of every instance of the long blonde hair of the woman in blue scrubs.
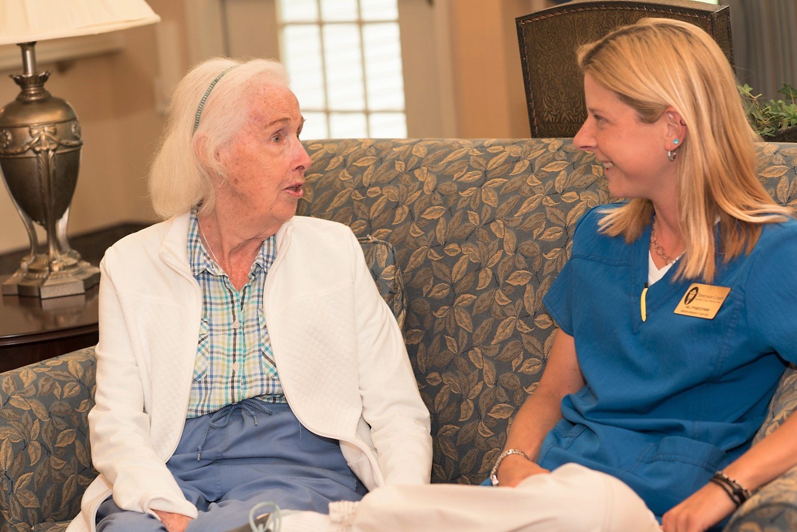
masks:
{"label": "long blonde hair of the woman in blue scrubs", "polygon": [[[716,274],[714,227],[728,262],[750,253],[762,223],[791,209],[773,201],[758,180],[752,131],[728,60],[708,33],[688,22],[642,18],[578,50],[585,74],[618,95],[648,124],[665,109],[681,114],[687,136],[677,149],[678,223],[685,254],[677,278]],[[653,204],[631,199],[607,211],[600,229],[633,242],[650,223]]]}

